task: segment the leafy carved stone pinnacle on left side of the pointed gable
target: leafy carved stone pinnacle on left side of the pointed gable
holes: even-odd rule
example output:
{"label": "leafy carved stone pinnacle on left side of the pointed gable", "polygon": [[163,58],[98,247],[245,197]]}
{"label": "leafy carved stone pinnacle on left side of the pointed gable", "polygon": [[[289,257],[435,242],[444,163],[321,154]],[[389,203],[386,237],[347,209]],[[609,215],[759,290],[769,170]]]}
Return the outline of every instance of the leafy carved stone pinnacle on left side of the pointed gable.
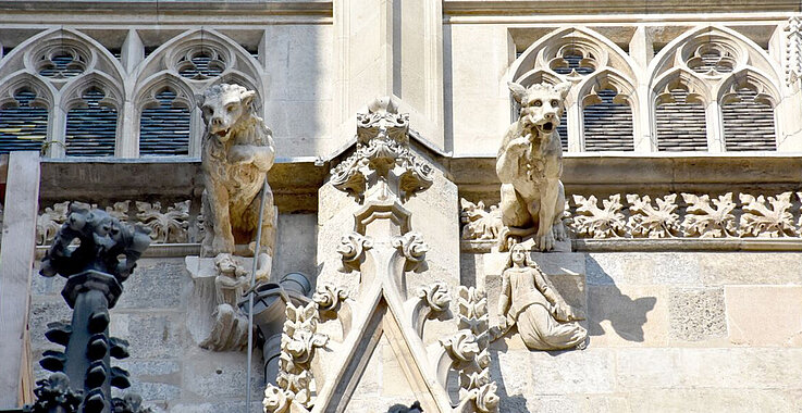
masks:
{"label": "leafy carved stone pinnacle on left side of the pointed gable", "polygon": [[316,302],[306,306],[295,306],[288,302],[286,317],[281,338],[277,387],[269,385],[264,391],[262,404],[266,412],[285,412],[291,403],[311,409],[317,393],[311,361],[316,349],[329,341],[329,337],[317,333]]}

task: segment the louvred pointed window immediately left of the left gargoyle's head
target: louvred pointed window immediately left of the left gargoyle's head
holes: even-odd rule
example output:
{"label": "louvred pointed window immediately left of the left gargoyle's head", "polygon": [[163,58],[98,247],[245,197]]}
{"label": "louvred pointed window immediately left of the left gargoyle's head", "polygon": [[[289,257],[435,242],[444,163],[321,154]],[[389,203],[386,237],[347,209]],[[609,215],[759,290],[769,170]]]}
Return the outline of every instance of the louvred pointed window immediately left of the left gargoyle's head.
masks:
{"label": "louvred pointed window immediately left of the left gargoyle's head", "polygon": [[192,111],[172,88],[157,92],[139,117],[139,154],[187,155]]}

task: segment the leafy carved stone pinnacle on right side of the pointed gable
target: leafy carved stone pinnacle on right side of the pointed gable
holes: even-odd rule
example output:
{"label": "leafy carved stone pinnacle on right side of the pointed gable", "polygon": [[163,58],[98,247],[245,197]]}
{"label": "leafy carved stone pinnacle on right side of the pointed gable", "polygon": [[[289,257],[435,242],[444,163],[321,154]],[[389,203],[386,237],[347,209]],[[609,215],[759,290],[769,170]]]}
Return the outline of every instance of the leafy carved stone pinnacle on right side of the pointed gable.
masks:
{"label": "leafy carved stone pinnacle on right side of the pointed gable", "polygon": [[452,359],[452,368],[459,372],[459,405],[457,412],[498,412],[496,384],[490,378],[490,330],[488,299],[483,290],[459,287],[459,330],[440,343]]}

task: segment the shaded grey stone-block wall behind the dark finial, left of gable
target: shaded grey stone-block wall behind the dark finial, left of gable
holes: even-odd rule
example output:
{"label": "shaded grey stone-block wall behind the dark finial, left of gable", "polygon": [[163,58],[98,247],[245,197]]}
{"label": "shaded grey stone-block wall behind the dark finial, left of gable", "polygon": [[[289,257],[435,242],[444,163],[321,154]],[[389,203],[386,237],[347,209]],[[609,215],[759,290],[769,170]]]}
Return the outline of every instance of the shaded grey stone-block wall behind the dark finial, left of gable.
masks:
{"label": "shaded grey stone-block wall behind the dark finial, left of gable", "polygon": [[[281,215],[279,228],[274,274],[313,274],[314,216]],[[70,321],[63,286],[58,276],[33,278],[29,328],[35,361],[45,350],[61,350],[45,338],[45,331],[48,323]],[[242,412],[246,354],[198,347],[205,338],[199,326],[210,324],[203,317],[211,320],[213,306],[213,299],[201,302],[198,295],[183,256],[140,260],[111,311],[111,335],[131,342],[131,358],[119,364],[131,373],[132,389],[151,405],[176,413]],[[46,376],[38,364],[34,368],[37,379]],[[254,354],[252,372],[254,412],[261,412],[260,350]]]}

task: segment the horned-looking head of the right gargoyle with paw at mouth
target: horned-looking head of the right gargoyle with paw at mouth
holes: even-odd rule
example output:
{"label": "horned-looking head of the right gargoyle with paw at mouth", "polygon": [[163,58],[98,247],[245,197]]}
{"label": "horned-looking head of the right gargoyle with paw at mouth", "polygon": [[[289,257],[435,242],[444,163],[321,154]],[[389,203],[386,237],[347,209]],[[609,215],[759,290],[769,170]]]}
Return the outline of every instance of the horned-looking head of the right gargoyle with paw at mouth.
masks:
{"label": "horned-looking head of the right gargoyle with paw at mouth", "polygon": [[563,101],[571,88],[570,83],[536,84],[528,88],[516,83],[508,83],[507,86],[521,105],[518,121],[525,128],[536,128],[540,133],[551,134],[559,126],[559,116],[565,110]]}

